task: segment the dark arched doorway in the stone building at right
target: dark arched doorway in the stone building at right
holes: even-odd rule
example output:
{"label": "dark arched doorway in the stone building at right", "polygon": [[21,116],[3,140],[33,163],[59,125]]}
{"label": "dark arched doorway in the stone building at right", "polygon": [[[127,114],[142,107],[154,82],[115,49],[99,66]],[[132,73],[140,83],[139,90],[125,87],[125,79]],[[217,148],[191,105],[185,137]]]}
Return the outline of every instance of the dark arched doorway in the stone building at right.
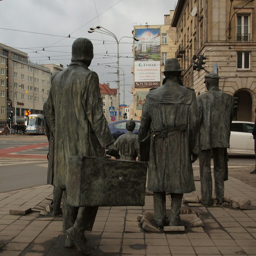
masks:
{"label": "dark arched doorway in the stone building at right", "polygon": [[237,104],[235,104],[233,120],[252,121],[252,97],[246,90],[240,90],[234,94]]}

